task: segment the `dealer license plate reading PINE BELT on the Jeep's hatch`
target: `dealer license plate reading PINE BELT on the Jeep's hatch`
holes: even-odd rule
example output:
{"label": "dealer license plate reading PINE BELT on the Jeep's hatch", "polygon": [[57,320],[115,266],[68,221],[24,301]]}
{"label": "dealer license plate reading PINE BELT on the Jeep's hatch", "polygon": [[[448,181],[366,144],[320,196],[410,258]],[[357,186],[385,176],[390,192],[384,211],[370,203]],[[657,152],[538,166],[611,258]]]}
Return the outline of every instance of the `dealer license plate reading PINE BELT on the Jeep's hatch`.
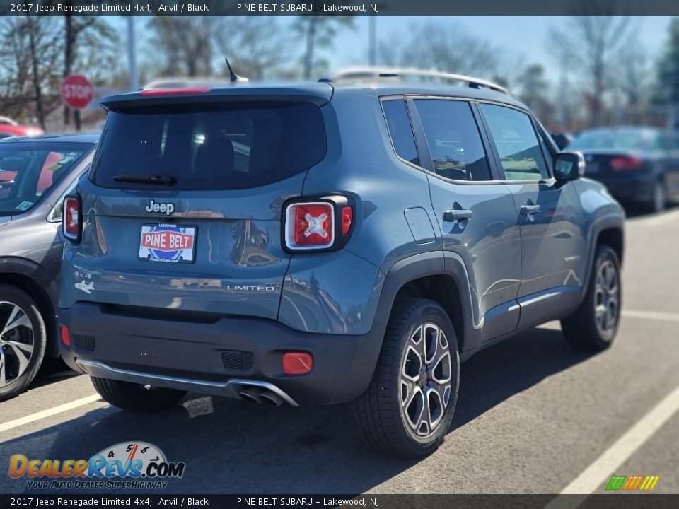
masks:
{"label": "dealer license plate reading PINE BELT on the Jeep's hatch", "polygon": [[195,226],[170,224],[141,226],[139,259],[148,262],[193,263]]}

